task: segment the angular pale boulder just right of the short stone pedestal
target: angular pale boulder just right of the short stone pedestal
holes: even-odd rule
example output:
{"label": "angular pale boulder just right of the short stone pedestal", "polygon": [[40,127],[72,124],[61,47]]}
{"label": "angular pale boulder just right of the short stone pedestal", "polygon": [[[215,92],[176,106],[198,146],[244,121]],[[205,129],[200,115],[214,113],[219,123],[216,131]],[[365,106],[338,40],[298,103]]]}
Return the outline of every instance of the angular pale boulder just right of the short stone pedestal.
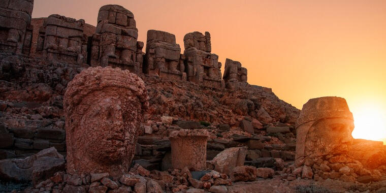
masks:
{"label": "angular pale boulder just right of the short stone pedestal", "polygon": [[233,168],[244,166],[247,147],[232,147],[221,151],[213,160],[214,170],[230,175]]}

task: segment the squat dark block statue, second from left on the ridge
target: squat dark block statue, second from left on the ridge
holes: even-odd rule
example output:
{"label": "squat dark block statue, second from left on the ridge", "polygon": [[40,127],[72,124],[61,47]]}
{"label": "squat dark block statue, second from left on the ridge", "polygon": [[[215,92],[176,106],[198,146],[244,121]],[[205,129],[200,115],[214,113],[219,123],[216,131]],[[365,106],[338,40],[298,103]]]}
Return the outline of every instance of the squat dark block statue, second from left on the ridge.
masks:
{"label": "squat dark block statue, second from left on the ridge", "polygon": [[87,38],[83,27],[83,19],[50,15],[39,31],[38,55],[77,65],[87,63]]}

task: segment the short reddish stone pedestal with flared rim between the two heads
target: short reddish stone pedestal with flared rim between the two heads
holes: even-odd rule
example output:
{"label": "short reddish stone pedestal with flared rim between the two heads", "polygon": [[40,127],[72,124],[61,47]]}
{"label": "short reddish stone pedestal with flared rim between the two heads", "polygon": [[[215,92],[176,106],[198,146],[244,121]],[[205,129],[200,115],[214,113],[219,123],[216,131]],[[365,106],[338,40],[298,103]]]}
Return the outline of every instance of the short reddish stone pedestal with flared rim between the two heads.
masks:
{"label": "short reddish stone pedestal with flared rim between the two heads", "polygon": [[206,169],[206,130],[180,130],[170,134],[172,146],[172,167],[193,170]]}

